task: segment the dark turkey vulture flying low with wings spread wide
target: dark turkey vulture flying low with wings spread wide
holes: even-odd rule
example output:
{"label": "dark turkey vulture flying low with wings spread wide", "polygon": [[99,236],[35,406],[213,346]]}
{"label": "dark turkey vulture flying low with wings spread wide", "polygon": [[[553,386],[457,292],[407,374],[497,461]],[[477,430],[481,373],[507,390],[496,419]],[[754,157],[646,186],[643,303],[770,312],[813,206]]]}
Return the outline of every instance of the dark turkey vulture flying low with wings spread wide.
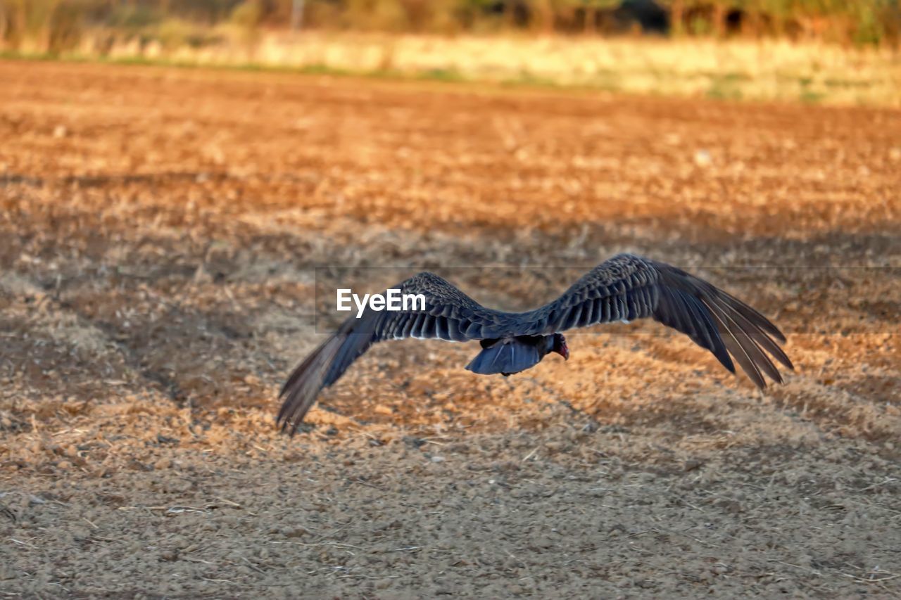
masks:
{"label": "dark turkey vulture flying low with wings spread wide", "polygon": [[[337,381],[350,363],[377,341],[426,338],[481,342],[467,368],[480,375],[510,375],[537,365],[549,352],[569,358],[560,333],[595,323],[644,317],[686,333],[713,352],[733,373],[733,358],[758,387],[763,375],[782,383],[764,350],[794,370],[779,347],[785,336],[751,306],[680,268],[619,254],[581,277],[559,298],[527,313],[504,313],[479,305],[457,287],[420,273],[396,286],[404,294],[425,296],[424,310],[374,311],[351,316],[288,377],[279,397],[283,432],[297,426],[323,388]],[[730,356],[731,355],[731,356]]]}

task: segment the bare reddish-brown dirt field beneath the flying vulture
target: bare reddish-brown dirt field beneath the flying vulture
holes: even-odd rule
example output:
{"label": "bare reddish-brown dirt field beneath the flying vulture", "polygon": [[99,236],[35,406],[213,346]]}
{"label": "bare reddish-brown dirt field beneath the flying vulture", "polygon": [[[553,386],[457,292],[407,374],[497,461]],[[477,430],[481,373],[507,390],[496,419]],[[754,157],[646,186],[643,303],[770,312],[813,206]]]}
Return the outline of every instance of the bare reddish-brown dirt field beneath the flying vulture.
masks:
{"label": "bare reddish-brown dirt field beneath the flying vulture", "polygon": [[[0,62],[0,594],[897,597],[899,189],[891,110]],[[314,268],[516,307],[618,251],[796,373],[399,341],[276,432]]]}

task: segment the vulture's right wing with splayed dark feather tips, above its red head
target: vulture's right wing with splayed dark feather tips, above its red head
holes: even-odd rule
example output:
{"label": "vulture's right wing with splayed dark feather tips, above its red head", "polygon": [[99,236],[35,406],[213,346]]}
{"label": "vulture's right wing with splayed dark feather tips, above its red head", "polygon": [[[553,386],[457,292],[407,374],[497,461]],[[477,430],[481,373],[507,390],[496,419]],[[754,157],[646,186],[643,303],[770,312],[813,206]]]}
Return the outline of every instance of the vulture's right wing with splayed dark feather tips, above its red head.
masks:
{"label": "vulture's right wing with splayed dark feather tips, above its red head", "polygon": [[645,317],[687,334],[734,373],[733,357],[760,388],[766,386],[764,373],[782,383],[766,352],[794,370],[778,344],[785,336],[765,316],[680,268],[632,254],[605,260],[557,300],[523,314],[516,334],[547,335]]}

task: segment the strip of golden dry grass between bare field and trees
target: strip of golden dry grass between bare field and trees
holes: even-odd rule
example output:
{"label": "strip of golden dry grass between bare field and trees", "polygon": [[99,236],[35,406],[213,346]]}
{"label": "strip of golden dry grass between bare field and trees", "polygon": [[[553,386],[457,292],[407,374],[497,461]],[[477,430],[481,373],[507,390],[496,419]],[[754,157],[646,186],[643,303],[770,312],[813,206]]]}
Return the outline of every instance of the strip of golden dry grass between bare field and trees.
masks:
{"label": "strip of golden dry grass between bare field and trees", "polygon": [[[819,42],[653,40],[535,36],[266,33],[252,43],[224,31],[204,48],[135,40],[107,59],[184,65],[320,69],[630,94],[901,105],[901,62],[888,49]],[[86,36],[71,56],[96,58],[103,36]]]}

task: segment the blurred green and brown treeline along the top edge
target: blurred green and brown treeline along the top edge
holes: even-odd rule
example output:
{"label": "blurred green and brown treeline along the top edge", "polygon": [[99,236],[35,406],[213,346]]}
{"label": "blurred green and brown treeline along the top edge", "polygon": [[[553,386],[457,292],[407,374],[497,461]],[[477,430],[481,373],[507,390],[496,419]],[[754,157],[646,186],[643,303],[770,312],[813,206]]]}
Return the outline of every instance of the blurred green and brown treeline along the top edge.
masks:
{"label": "blurred green and brown treeline along the top edge", "polygon": [[88,33],[164,46],[263,30],[777,37],[897,46],[901,0],[0,0],[6,49],[61,51]]}

